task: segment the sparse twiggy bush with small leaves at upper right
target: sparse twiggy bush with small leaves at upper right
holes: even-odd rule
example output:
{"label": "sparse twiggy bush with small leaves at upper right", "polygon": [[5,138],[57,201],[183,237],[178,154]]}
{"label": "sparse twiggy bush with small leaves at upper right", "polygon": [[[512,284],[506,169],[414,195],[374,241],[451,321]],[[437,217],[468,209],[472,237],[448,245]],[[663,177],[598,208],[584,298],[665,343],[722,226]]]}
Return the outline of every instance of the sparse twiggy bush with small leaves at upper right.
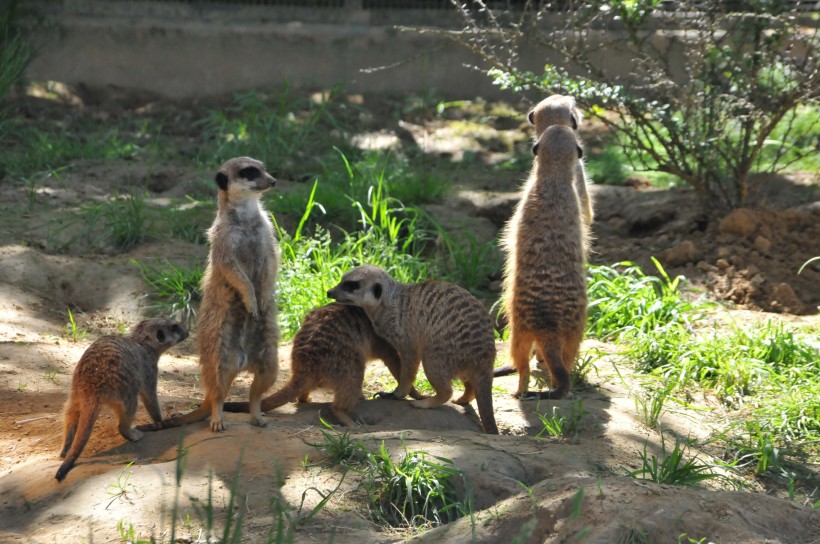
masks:
{"label": "sparse twiggy bush with small leaves at upper right", "polygon": [[[816,153],[820,128],[807,114],[820,105],[816,23],[782,0],[744,2],[742,12],[729,4],[681,0],[665,11],[660,0],[533,0],[501,12],[475,0],[461,6],[467,29],[453,36],[490,64],[497,84],[575,96],[633,168],[672,174],[706,209],[729,209],[747,203],[751,173]],[[561,66],[527,71],[524,45]],[[631,59],[630,73],[601,62],[602,49]]]}

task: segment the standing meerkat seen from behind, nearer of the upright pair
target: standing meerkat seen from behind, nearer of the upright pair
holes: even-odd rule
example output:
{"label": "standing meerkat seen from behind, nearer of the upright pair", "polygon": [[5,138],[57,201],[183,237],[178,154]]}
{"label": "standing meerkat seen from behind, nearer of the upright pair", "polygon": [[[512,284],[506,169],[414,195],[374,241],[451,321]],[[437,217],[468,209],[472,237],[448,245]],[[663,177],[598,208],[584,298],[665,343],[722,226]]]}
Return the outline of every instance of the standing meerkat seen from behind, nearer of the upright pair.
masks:
{"label": "standing meerkat seen from behind, nearer of the upright pair", "polygon": [[[586,325],[587,231],[576,191],[583,150],[571,128],[554,125],[533,154],[523,196],[502,235],[505,312],[510,357],[519,374],[516,395],[559,399],[569,392]],[[553,389],[528,394],[533,344]]]}

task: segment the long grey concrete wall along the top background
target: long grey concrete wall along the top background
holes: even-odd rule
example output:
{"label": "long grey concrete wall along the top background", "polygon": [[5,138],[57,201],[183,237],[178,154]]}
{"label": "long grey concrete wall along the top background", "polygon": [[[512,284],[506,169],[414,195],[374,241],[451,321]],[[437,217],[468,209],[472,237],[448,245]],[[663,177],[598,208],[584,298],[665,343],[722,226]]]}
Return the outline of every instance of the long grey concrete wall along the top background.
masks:
{"label": "long grey concrete wall along the top background", "polygon": [[[484,73],[465,67],[478,62],[465,48],[440,35],[400,31],[398,21],[369,10],[92,1],[42,5],[57,24],[39,33],[43,47],[26,73],[32,80],[116,85],[173,98],[285,82],[341,83],[354,92],[499,94]],[[441,22],[455,15],[416,12],[404,13],[404,19]]]}

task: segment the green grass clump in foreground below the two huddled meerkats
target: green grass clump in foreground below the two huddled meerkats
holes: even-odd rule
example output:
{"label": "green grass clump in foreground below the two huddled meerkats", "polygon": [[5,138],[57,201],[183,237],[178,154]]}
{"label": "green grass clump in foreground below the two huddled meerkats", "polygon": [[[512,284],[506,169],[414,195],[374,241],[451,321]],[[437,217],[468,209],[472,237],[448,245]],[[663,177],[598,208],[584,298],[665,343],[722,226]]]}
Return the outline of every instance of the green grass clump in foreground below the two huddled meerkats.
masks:
{"label": "green grass clump in foreground below the two huddled meerkats", "polygon": [[434,527],[462,517],[465,502],[456,481],[464,474],[449,459],[406,451],[394,462],[384,443],[369,456],[363,482],[368,508],[390,527]]}

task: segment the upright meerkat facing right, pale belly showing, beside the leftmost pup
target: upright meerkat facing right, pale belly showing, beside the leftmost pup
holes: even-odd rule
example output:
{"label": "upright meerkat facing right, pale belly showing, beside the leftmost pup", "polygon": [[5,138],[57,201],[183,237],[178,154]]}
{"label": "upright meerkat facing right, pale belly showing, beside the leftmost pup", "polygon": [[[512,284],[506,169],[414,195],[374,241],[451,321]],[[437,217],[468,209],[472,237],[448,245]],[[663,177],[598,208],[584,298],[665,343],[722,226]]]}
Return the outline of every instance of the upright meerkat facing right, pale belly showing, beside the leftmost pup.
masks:
{"label": "upright meerkat facing right, pale belly showing, beside the leftmost pup", "polygon": [[264,426],[260,402],[279,370],[274,299],[279,255],[260,197],[275,183],[265,166],[249,157],[230,159],[219,168],[218,207],[208,230],[211,249],[196,328],[205,399],[192,412],[139,429],[177,427],[210,414],[211,430],[224,431],[222,405],[243,370],[253,374],[251,423]]}

